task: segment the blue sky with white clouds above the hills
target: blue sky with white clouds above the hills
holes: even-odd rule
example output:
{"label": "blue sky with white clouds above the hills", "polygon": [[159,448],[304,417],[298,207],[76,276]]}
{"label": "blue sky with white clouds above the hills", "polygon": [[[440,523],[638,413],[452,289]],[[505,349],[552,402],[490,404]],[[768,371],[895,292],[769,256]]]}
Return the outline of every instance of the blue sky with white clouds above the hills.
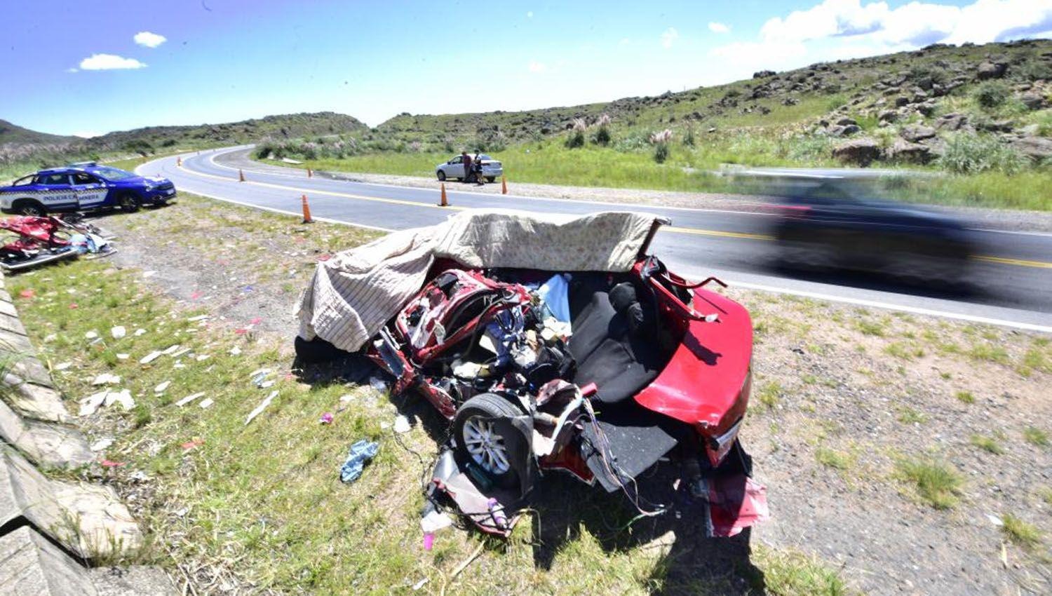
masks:
{"label": "blue sky with white clouds above the hills", "polygon": [[376,125],[1052,37],[1052,0],[15,0],[4,17],[0,118],[62,135],[318,110]]}

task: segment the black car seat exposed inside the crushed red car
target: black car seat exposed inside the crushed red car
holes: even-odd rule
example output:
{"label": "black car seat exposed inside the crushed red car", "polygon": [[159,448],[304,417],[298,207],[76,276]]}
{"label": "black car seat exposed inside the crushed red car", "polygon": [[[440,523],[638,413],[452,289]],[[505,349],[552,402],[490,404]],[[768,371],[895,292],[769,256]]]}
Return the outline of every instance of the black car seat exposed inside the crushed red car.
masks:
{"label": "black car seat exposed inside the crushed red car", "polygon": [[573,381],[594,383],[600,402],[625,402],[661,372],[656,321],[630,282],[612,287],[595,280],[571,284],[570,315],[567,348],[578,363]]}

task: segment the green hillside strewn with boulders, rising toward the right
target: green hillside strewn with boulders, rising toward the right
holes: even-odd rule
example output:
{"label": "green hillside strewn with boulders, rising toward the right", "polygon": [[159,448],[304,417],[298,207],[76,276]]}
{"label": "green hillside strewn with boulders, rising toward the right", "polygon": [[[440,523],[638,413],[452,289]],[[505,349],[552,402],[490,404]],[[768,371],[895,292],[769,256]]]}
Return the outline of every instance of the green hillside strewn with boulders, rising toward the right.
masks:
{"label": "green hillside strewn with boulders, rising toward the right", "polygon": [[517,112],[401,114],[378,126],[373,136],[425,148],[467,142],[499,150],[561,135],[574,122],[590,127],[606,114],[622,136],[671,128],[680,138],[687,130],[715,138],[764,130],[844,138],[850,142],[835,156],[852,163],[926,162],[944,152],[946,133],[971,130],[995,133],[1019,151],[1043,158],[1052,143],[1043,137],[1052,128],[1052,116],[1043,111],[1049,107],[1050,81],[1052,41],[936,44],[608,103]]}

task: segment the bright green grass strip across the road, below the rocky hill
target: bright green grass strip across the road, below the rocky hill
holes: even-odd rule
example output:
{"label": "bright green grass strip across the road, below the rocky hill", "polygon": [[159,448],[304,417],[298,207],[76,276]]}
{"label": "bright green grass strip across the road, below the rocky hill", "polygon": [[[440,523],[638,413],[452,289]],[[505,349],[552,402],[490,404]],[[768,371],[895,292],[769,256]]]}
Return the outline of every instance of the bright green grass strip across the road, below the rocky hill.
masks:
{"label": "bright green grass strip across the road, below the rocky hill", "polygon": [[[747,140],[746,140],[747,139]],[[654,163],[644,152],[623,152],[613,148],[588,146],[568,149],[562,142],[546,141],[515,145],[490,155],[501,160],[509,181],[599,188],[638,188],[683,192],[756,193],[763,188],[743,184],[711,171],[722,164],[750,166],[827,167],[835,162],[825,158],[807,161],[786,157],[786,151],[767,146],[771,141],[740,138],[719,141],[705,147],[673,148],[669,161]],[[823,142],[825,146],[825,142]],[[702,144],[702,143],[700,143]],[[750,148],[751,147],[751,148]],[[288,164],[280,160],[261,160],[267,164],[323,171],[386,173],[433,179],[436,165],[450,158],[446,152],[369,152],[343,159],[304,160]],[[887,179],[882,191],[889,198],[912,203],[940,205],[1052,210],[1052,171],[1047,168],[1015,173],[985,171],[970,174],[946,174],[911,178],[912,171],[932,173],[930,169],[903,168],[904,176]]]}

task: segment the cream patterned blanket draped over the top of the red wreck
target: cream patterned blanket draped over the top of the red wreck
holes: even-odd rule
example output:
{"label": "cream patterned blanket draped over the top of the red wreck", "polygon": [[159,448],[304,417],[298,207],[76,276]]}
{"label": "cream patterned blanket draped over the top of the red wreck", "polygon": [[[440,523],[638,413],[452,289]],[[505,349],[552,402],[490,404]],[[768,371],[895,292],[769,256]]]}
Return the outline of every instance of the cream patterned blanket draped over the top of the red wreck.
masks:
{"label": "cream patterned blanket draped over the top of the red wreck", "polygon": [[479,268],[627,271],[655,221],[624,211],[462,211],[439,225],[391,232],[318,264],[300,296],[300,335],[358,350],[420,290],[436,259]]}

